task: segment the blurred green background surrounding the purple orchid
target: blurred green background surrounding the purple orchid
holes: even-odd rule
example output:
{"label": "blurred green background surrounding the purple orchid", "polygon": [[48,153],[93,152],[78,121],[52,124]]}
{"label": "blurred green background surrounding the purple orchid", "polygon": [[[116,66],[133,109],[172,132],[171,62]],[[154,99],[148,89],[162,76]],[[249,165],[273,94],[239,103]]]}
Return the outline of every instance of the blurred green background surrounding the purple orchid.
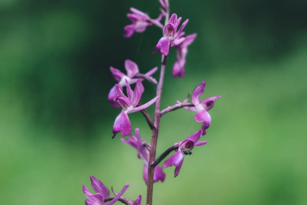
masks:
{"label": "blurred green background surrounding the purple orchid", "polygon": [[[120,135],[111,139],[120,110],[107,102],[109,66],[123,71],[131,59],[146,73],[160,63],[151,52],[161,30],[123,37],[131,6],[159,15],[157,0],[0,0],[2,204],[81,205],[90,175],[116,192],[130,183],[124,197],[142,194],[145,204],[143,163]],[[306,1],[170,0],[170,8],[198,36],[185,78],[171,76],[171,50],[161,108],[203,80],[202,97],[222,98],[210,110],[208,144],[186,156],[176,178],[164,169],[154,204],[307,204]],[[155,96],[144,86],[143,102]],[[200,128],[193,115],[162,117],[157,154]],[[150,141],[141,113],[129,117]]]}

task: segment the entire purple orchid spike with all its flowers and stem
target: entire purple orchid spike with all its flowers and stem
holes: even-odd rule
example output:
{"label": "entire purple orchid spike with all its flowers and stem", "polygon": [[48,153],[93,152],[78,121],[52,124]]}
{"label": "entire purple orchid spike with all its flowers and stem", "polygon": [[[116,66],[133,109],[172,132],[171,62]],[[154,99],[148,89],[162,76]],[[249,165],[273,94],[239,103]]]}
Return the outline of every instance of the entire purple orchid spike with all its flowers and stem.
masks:
{"label": "entire purple orchid spike with all its flowers and stem", "polygon": [[[211,123],[211,116],[208,111],[213,107],[214,102],[220,95],[209,97],[204,100],[200,100],[200,97],[204,93],[206,85],[205,81],[202,81],[200,85],[197,85],[192,92],[191,103],[188,102],[189,97],[184,101],[177,101],[173,106],[169,106],[164,110],[160,110],[161,93],[163,87],[163,79],[165,74],[166,56],[169,54],[171,48],[175,48],[177,52],[177,60],[173,65],[172,76],[173,77],[184,77],[186,55],[188,53],[188,46],[196,38],[196,34],[190,34],[185,36],[183,31],[188,23],[188,19],[185,20],[181,26],[181,17],[177,17],[177,14],[172,14],[170,17],[169,13],[169,1],[159,0],[161,4],[161,14],[158,18],[152,19],[150,16],[135,8],[130,8],[132,13],[127,14],[128,19],[131,21],[130,25],[124,27],[124,37],[131,37],[134,33],[144,32],[147,26],[157,26],[163,32],[163,36],[155,46],[153,54],[160,51],[162,54],[161,73],[159,82],[152,77],[157,71],[157,67],[149,70],[145,74],[140,73],[138,65],[131,61],[125,61],[126,74],[122,73],[119,69],[110,67],[111,73],[117,83],[111,88],[108,94],[108,101],[112,104],[113,108],[122,108],[118,116],[115,118],[113,124],[113,136],[120,133],[122,136],[128,136],[128,139],[120,138],[120,140],[133,147],[139,159],[143,161],[143,179],[147,185],[147,203],[152,205],[152,192],[154,182],[164,182],[165,173],[162,168],[169,166],[175,166],[176,177],[182,167],[185,155],[191,155],[194,146],[203,146],[207,141],[200,141],[202,135],[206,134],[206,130],[209,128]],[[164,25],[161,24],[162,18],[165,18]],[[150,101],[145,104],[141,103],[142,95],[145,88],[142,84],[143,80],[147,80],[157,86],[157,94]],[[135,84],[134,90],[131,89],[130,85]],[[126,86],[126,94],[123,91],[123,87]],[[155,104],[154,119],[151,120],[150,115],[146,111],[146,108]],[[161,116],[167,112],[184,108],[190,111],[196,112],[194,120],[201,123],[199,130],[192,135],[188,136],[185,140],[175,143],[174,146],[168,148],[159,157],[155,157],[157,149],[157,137],[160,126]],[[149,124],[152,131],[151,142],[147,143],[142,140],[139,128],[135,128],[135,136],[131,134],[132,126],[128,117],[128,114],[133,112],[141,111],[144,115],[146,122]],[[192,118],[192,116],[191,116]],[[111,132],[111,130],[110,130]],[[111,133],[110,133],[111,134]],[[160,139],[160,138],[159,138]],[[177,141],[177,140],[176,140]],[[178,140],[179,141],[179,140]],[[175,151],[165,162],[162,167],[158,164],[166,158],[171,152]],[[96,192],[92,194],[85,185],[83,185],[83,192],[86,196],[85,203],[87,205],[112,205],[117,201],[120,201],[127,205],[141,205],[141,195],[136,200],[123,198],[122,195],[130,184],[126,184],[122,190],[116,194],[113,189],[114,196],[110,196],[109,190],[105,185],[95,177],[91,176],[91,186]]]}

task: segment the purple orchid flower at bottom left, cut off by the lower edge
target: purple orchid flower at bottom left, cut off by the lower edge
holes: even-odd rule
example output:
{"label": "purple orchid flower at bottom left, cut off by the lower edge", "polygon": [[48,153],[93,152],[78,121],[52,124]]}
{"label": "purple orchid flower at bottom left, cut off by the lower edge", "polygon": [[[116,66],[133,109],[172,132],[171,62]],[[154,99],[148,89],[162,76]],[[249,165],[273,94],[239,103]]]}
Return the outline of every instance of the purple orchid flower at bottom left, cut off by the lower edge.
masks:
{"label": "purple orchid flower at bottom left, cut off by the lower edge", "polygon": [[85,200],[85,204],[87,205],[112,205],[117,200],[119,200],[122,194],[126,191],[126,189],[130,186],[130,184],[126,184],[122,190],[116,195],[111,201],[105,203],[105,199],[110,197],[110,192],[106,186],[95,177],[91,176],[91,185],[96,192],[96,194],[92,194],[85,185],[82,185],[82,190],[87,200]]}

